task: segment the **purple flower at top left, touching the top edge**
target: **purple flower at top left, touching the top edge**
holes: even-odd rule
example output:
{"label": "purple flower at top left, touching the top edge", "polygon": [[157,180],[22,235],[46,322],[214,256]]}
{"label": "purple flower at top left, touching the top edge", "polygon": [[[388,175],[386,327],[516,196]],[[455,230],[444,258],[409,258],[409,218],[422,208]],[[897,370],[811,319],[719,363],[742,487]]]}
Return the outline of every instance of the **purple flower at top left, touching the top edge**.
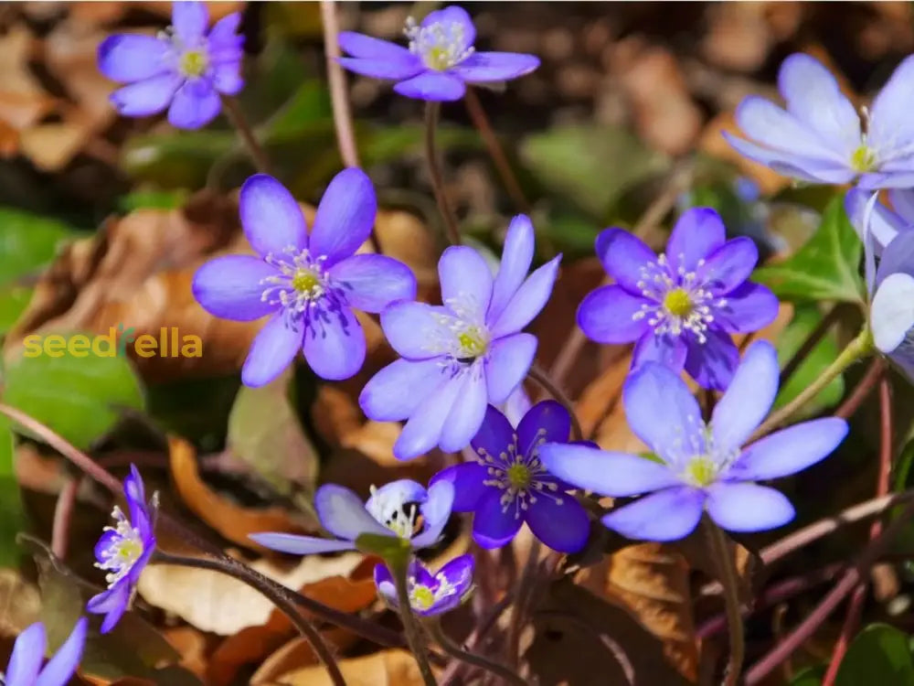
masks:
{"label": "purple flower at top left, touching the top edge", "polygon": [[119,113],[145,117],[168,108],[178,128],[198,129],[222,105],[219,94],[235,95],[241,80],[241,15],[224,16],[207,35],[207,5],[176,2],[172,24],[157,37],[122,34],[99,46],[99,69],[109,79],[128,83],[111,96]]}

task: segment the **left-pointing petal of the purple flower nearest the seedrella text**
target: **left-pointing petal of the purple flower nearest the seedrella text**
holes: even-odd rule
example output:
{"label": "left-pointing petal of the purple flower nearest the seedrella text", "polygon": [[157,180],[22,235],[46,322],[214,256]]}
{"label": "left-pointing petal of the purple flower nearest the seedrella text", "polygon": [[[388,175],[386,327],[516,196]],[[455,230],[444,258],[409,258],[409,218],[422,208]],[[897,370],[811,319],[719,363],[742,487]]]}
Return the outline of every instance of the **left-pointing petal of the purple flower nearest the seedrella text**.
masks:
{"label": "left-pointing petal of the purple flower nearest the seedrella text", "polygon": [[264,280],[277,274],[276,267],[253,255],[224,255],[204,263],[191,290],[210,315],[250,322],[267,316],[276,305],[261,298]]}

